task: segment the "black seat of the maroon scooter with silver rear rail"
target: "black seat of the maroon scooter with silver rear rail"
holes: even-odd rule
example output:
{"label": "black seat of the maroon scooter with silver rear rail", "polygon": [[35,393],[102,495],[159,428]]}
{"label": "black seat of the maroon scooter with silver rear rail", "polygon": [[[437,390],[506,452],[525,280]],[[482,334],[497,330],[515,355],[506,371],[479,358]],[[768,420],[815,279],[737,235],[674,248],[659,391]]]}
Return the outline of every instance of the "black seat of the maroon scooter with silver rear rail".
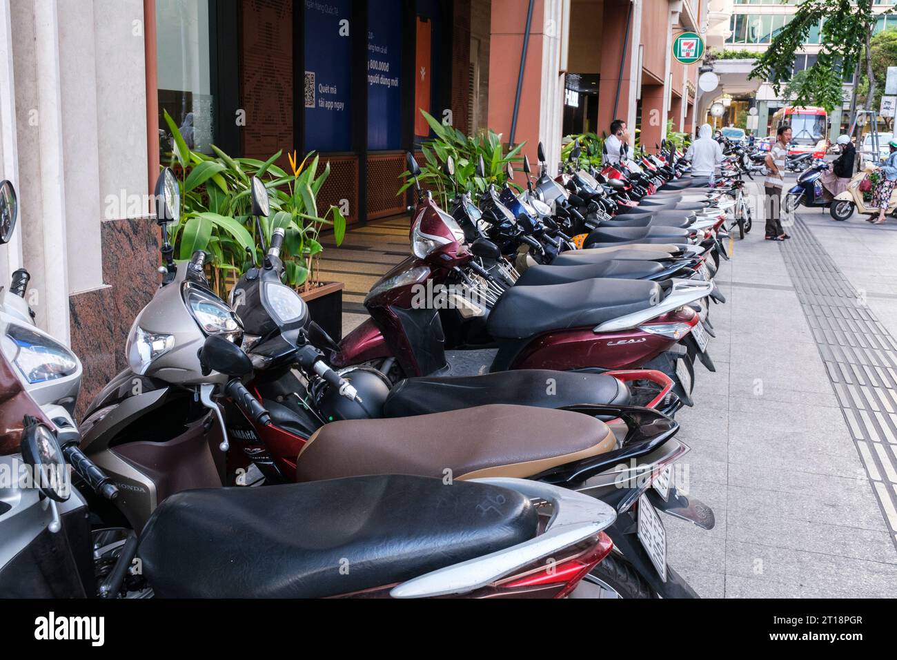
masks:
{"label": "black seat of the maroon scooter with silver rear rail", "polygon": [[594,328],[648,309],[663,297],[656,282],[584,279],[570,284],[512,286],[492,308],[486,330],[495,338],[526,339],[550,330]]}

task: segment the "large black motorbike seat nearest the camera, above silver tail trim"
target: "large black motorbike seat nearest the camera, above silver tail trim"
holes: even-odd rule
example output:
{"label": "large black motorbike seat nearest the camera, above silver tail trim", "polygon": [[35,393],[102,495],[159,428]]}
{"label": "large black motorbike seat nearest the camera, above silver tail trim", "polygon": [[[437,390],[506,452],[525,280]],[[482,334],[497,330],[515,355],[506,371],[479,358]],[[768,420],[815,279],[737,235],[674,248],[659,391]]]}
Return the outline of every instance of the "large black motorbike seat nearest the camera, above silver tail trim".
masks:
{"label": "large black motorbike seat nearest the camera, above silver tail trim", "polygon": [[517,491],[427,477],[202,488],[162,502],[138,556],[163,598],[319,598],[509,548],[537,524]]}

